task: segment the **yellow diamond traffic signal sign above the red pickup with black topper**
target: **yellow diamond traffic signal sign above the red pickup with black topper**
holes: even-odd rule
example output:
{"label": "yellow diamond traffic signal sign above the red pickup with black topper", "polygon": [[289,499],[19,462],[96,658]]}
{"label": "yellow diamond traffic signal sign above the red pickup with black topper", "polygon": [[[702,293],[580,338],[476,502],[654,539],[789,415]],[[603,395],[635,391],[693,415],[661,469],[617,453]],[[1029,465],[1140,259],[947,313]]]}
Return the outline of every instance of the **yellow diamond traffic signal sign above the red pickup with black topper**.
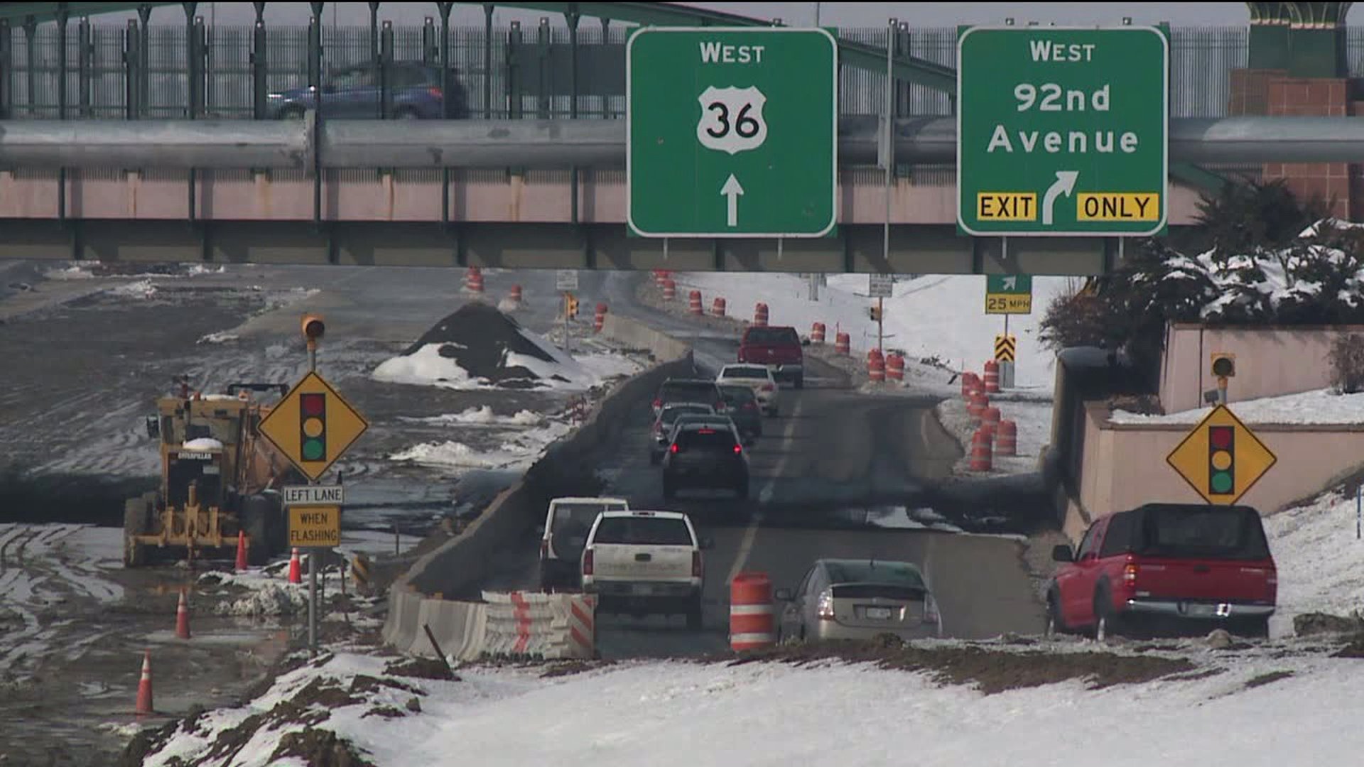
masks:
{"label": "yellow diamond traffic signal sign above the red pickup with black topper", "polygon": [[1209,504],[1234,504],[1278,459],[1226,405],[1217,405],[1165,461]]}

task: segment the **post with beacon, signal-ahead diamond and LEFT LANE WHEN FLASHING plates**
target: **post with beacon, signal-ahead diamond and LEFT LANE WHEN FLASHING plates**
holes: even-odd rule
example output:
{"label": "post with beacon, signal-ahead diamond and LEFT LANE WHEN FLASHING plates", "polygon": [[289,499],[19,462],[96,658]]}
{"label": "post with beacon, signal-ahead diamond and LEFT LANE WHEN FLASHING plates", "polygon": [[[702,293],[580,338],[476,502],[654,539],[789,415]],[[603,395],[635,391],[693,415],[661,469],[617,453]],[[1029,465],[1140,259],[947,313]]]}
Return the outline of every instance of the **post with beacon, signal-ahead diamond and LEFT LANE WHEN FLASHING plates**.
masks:
{"label": "post with beacon, signal-ahead diamond and LEFT LANE WHEN FLASHING plates", "polygon": [[[289,540],[308,550],[308,651],[318,654],[318,560],[319,553],[341,543],[340,484],[323,487],[322,475],[370,427],[341,394],[318,375],[321,317],[304,315],[308,373],[261,420],[261,435],[289,459],[308,484],[286,487]],[[293,504],[289,504],[289,501]]]}

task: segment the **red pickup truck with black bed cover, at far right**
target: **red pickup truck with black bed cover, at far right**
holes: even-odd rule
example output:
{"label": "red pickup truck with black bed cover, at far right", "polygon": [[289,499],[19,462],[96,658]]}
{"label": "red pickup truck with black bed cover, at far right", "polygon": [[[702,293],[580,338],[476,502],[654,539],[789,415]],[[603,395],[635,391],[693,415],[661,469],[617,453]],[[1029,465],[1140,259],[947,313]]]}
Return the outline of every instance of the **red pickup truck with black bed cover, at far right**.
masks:
{"label": "red pickup truck with black bed cover, at far right", "polygon": [[1269,636],[1278,570],[1251,506],[1146,504],[1099,519],[1046,590],[1048,633],[1221,626]]}

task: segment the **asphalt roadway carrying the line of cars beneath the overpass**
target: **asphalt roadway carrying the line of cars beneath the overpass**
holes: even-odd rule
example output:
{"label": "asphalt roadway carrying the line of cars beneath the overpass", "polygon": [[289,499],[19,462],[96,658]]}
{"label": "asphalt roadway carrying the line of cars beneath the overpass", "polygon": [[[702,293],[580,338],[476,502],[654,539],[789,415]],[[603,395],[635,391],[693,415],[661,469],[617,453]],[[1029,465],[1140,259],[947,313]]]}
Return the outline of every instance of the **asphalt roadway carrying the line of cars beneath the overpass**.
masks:
{"label": "asphalt roadway carrying the line of cars beneath the overpass", "polygon": [[[701,373],[734,359],[731,334],[698,330],[686,319],[638,306],[640,276],[592,274],[611,311],[649,322],[696,348]],[[809,360],[809,358],[807,358]],[[934,524],[934,504],[1001,502],[1004,483],[944,487],[960,448],[933,416],[932,397],[870,396],[851,390],[837,370],[809,360],[806,388],[782,392],[782,415],[768,419],[750,449],[752,500],[724,493],[685,493],[664,501],[660,471],[648,460],[649,411],[641,404],[610,454],[599,459],[606,493],[638,509],[687,512],[715,547],[705,558],[704,628],[689,632],[681,617],[600,616],[604,658],[698,655],[727,644],[728,581],[742,570],[765,572],[776,587],[794,587],[821,557],[874,557],[918,564],[943,610],[944,631],[990,637],[1042,629],[1037,600],[1012,536],[948,532]],[[914,525],[921,527],[883,527]],[[928,524],[938,530],[922,527]],[[527,539],[502,557],[486,587],[535,588],[537,542]]]}

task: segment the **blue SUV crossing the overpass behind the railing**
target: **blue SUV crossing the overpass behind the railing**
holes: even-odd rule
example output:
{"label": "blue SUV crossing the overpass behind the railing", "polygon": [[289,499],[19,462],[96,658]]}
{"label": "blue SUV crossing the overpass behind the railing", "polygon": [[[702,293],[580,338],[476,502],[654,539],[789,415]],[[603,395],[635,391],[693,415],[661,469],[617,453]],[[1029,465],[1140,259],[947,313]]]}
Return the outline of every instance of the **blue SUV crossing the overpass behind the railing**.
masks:
{"label": "blue SUV crossing the overpass behind the railing", "polygon": [[[441,67],[420,61],[394,61],[389,72],[389,115],[397,120],[439,120],[445,117],[445,101],[450,101],[450,117],[468,119],[469,105],[457,72],[450,71],[450,93],[442,91]],[[338,119],[379,117],[382,81],[375,64],[361,64],[341,70],[322,86],[322,116]],[[292,87],[271,93],[267,100],[270,116],[300,119],[308,109],[316,109],[316,93],[311,87]]]}

